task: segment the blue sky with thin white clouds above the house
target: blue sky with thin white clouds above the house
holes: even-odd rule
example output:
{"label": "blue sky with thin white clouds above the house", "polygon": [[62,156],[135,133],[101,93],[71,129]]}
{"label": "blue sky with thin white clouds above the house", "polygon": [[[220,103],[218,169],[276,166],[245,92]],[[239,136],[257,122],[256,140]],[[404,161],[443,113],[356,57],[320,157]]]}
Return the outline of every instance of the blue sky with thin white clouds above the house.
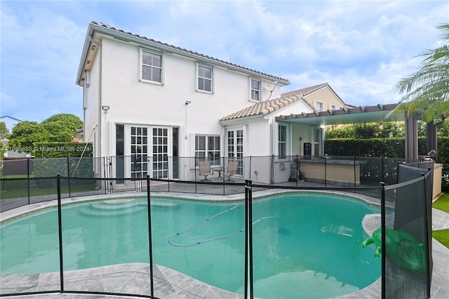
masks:
{"label": "blue sky with thin white clouds above the house", "polygon": [[76,72],[88,23],[286,79],[328,82],[351,105],[398,102],[394,84],[441,45],[449,1],[0,1],[1,116],[83,117]]}

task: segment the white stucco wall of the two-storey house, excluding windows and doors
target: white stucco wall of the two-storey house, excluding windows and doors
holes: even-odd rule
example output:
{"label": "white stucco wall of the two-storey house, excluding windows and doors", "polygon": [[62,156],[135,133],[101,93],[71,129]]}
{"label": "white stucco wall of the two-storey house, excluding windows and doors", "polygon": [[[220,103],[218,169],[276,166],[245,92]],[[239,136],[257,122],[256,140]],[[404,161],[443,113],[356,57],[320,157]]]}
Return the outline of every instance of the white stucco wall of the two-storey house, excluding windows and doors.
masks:
{"label": "white stucco wall of the two-storey house, excluding windows and doors", "polygon": [[[91,86],[85,89],[85,134],[94,143],[94,157],[115,156],[115,124],[138,126],[173,126],[180,128],[179,157],[194,157],[194,135],[222,135],[221,150],[225,156],[225,130],[218,121],[227,114],[253,105],[250,101],[250,77],[222,67],[213,67],[213,93],[196,91],[198,63],[196,60],[171,53],[163,55],[163,84],[139,81],[140,47],[116,39],[104,38],[91,69]],[[152,51],[152,49],[147,49]],[[159,53],[158,51],[154,51]],[[100,66],[101,62],[101,66]],[[265,83],[262,79],[253,77]],[[101,82],[101,84],[100,84]],[[261,86],[261,87],[262,87]],[[270,92],[261,88],[262,100],[267,100]],[[271,98],[281,94],[276,86]],[[186,105],[186,101],[190,104]],[[103,105],[110,107],[107,113],[101,110]],[[100,113],[99,113],[100,112]],[[266,126],[255,132],[257,149],[255,154],[267,155],[269,151],[269,129]],[[245,156],[251,152],[249,136],[253,135],[246,127]],[[87,140],[87,139],[86,139]],[[125,138],[126,141],[129,141]],[[259,146],[262,143],[262,146]],[[125,155],[127,152],[125,145]],[[170,150],[170,146],[168,147]],[[264,149],[264,150],[261,150]],[[170,156],[170,153],[169,153]],[[194,163],[180,165],[182,178],[194,175]],[[182,168],[185,171],[182,171]],[[100,168],[99,168],[100,169]],[[98,171],[96,171],[98,172]]]}

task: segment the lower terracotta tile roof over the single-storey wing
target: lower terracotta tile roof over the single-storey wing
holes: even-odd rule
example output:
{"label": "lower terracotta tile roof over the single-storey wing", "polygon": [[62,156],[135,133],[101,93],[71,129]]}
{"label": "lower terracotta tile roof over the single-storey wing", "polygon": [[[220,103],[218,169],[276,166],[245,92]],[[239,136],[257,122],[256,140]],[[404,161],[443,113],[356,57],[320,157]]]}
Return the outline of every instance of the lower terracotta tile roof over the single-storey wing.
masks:
{"label": "lower terracotta tile roof over the single-storey wing", "polygon": [[265,102],[258,102],[250,107],[246,107],[237,112],[227,115],[226,117],[222,117],[220,121],[229,121],[232,119],[241,119],[243,117],[262,117],[264,115],[275,112],[276,110],[281,109],[282,107],[286,107],[293,102],[296,102],[301,97],[300,94],[287,96],[283,98],[277,98],[274,100],[267,100]]}

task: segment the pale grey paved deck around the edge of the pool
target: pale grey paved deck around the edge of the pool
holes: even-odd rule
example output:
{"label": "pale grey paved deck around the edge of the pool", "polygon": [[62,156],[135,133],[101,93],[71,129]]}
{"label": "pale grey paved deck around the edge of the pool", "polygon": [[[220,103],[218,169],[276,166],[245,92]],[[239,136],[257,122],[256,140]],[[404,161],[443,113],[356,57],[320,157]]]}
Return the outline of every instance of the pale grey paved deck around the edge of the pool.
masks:
{"label": "pale grey paved deck around the edge of the pool", "polygon": [[[292,190],[282,192],[292,192]],[[322,191],[321,191],[322,192]],[[165,192],[164,192],[165,193]],[[257,193],[257,194],[255,194]],[[267,196],[269,194],[279,193],[279,190],[266,190],[263,192],[254,192],[253,198]],[[335,192],[333,192],[335,193]],[[123,197],[142,197],[142,193],[137,194],[113,194],[108,198]],[[155,192],[155,195],[161,195]],[[169,197],[176,197],[177,194],[167,193]],[[189,199],[206,200],[200,194],[187,194]],[[349,194],[351,195],[351,194]],[[354,195],[354,194],[352,194]],[[376,199],[363,197],[356,194],[357,197],[369,204],[378,204]],[[179,194],[181,196],[181,194]],[[186,194],[182,194],[183,197]],[[79,201],[91,201],[95,199],[104,199],[105,195],[95,197],[79,197],[71,199],[62,199],[63,204],[69,204]],[[242,194],[227,196],[207,195],[207,200],[232,201],[241,200]],[[55,201],[41,202],[29,206],[22,206],[10,211],[0,213],[1,221],[18,217],[26,213],[39,211],[42,208],[55,206]],[[378,218],[373,219],[373,225],[378,225]],[[433,230],[443,230],[449,228],[449,214],[436,209],[432,209]],[[443,299],[449,298],[449,249],[432,241],[432,255],[434,260],[434,271],[431,284],[431,298]],[[243,295],[231,293],[214,286],[209,286],[192,277],[170,270],[161,265],[153,266],[154,272],[154,296],[156,298],[243,298]],[[52,291],[60,288],[59,272],[43,274],[20,274],[20,275],[0,275],[0,293],[27,293],[36,291]],[[124,264],[110,265],[105,267],[91,268],[87,270],[74,270],[65,272],[65,290],[70,291],[91,291],[108,293],[133,293],[135,295],[149,295],[149,265],[147,264]],[[380,279],[375,281],[367,288],[360,291],[349,293],[337,297],[339,299],[356,298],[380,298],[381,285]],[[99,294],[79,294],[79,293],[45,293],[39,295],[13,295],[8,298],[138,298],[136,296],[116,296]]]}

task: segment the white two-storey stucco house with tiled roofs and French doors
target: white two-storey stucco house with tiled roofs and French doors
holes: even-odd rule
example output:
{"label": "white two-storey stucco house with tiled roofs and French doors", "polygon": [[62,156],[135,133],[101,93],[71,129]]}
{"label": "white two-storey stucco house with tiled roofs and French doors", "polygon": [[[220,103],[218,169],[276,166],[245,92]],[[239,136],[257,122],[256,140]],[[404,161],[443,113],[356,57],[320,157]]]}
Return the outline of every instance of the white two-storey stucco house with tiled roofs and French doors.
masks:
{"label": "white two-storey stucco house with tiled roofs and French doors", "polygon": [[[76,84],[84,141],[126,178],[192,180],[199,159],[222,168],[229,158],[239,160],[236,175],[263,182],[271,157],[285,163],[304,154],[304,143],[323,154],[323,125],[282,121],[286,115],[352,108],[328,84],[283,93],[288,79],[100,22],[88,25]],[[260,169],[247,157],[260,159]]]}

